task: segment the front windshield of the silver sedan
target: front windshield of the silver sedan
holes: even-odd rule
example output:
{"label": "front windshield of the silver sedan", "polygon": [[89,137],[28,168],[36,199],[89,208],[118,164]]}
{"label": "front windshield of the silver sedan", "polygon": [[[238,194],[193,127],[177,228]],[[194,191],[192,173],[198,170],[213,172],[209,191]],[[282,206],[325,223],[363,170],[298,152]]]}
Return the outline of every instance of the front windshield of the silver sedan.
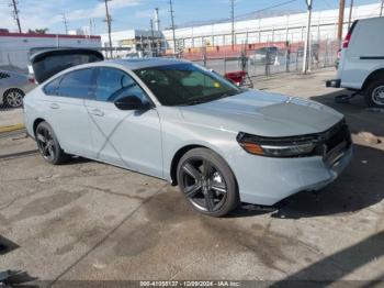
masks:
{"label": "front windshield of the silver sedan", "polygon": [[135,70],[163,106],[189,106],[239,93],[228,80],[194,64]]}

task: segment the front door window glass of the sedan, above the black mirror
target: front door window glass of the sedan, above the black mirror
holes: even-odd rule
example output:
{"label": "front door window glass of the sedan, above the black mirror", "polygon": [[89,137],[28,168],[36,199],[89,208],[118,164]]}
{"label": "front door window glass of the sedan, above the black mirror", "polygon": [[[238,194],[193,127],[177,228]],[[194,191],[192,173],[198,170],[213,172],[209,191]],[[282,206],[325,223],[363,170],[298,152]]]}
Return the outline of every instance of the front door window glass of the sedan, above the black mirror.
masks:
{"label": "front door window glass of the sedan, above the black mirror", "polygon": [[143,102],[148,98],[126,73],[114,68],[100,68],[97,77],[95,100],[113,102],[122,97],[136,96]]}

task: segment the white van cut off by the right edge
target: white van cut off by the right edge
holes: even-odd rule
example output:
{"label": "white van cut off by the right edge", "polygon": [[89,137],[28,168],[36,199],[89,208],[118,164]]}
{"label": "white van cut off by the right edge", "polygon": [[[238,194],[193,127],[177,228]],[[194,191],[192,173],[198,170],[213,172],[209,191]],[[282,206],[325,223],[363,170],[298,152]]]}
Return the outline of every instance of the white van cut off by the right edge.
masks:
{"label": "white van cut off by the right edge", "polygon": [[364,95],[369,107],[384,108],[384,18],[353,22],[343,43],[337,78],[327,87]]}

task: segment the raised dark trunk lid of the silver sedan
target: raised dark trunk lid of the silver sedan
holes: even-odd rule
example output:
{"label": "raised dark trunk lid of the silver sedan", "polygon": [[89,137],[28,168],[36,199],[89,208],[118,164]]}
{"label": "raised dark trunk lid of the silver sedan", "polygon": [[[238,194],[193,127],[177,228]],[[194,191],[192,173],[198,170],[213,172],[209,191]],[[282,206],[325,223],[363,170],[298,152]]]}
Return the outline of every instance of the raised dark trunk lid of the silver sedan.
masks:
{"label": "raised dark trunk lid of the silver sedan", "polygon": [[31,65],[35,80],[42,84],[67,68],[103,59],[103,55],[95,49],[59,48],[34,54],[31,57]]}

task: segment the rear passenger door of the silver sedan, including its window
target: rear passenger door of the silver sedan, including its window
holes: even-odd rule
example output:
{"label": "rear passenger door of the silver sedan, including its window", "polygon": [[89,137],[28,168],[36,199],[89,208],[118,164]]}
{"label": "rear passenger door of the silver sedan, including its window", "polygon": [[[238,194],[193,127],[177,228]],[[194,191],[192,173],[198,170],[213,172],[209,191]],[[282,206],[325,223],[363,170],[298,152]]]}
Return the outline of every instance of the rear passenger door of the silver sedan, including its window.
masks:
{"label": "rear passenger door of the silver sedan, including its window", "polygon": [[43,87],[41,106],[61,147],[75,155],[93,158],[92,139],[84,104],[93,87],[94,68],[72,70]]}

